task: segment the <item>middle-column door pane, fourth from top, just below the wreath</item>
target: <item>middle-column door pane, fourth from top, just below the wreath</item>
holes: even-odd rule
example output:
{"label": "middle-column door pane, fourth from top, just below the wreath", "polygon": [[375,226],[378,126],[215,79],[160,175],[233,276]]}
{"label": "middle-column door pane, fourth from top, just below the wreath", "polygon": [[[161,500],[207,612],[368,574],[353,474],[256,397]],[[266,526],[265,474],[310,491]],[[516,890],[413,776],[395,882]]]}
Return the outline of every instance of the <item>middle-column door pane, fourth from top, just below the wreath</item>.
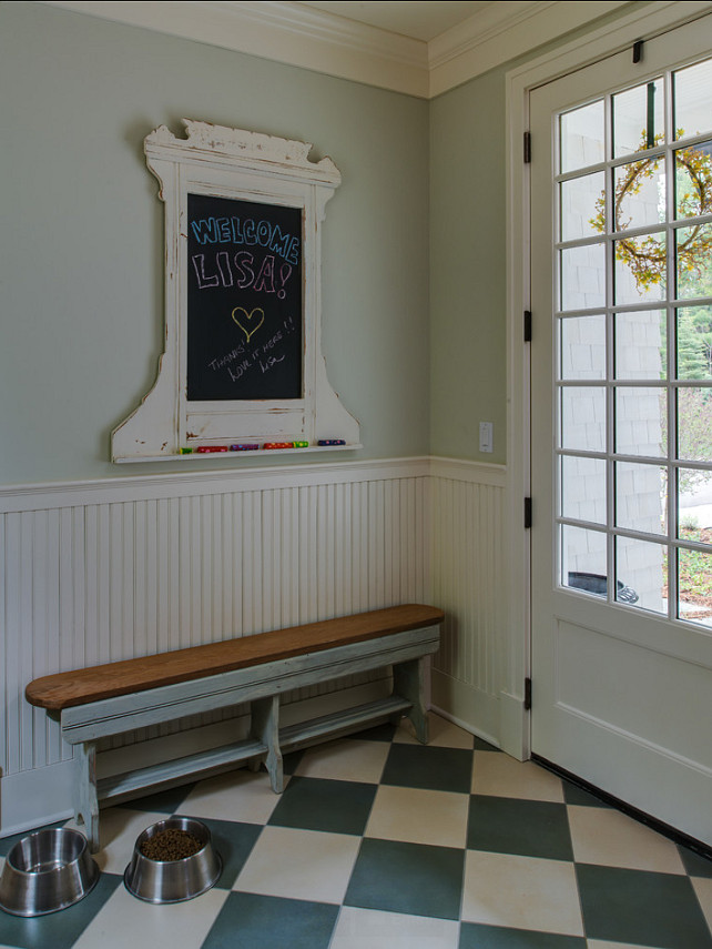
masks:
{"label": "middle-column door pane, fourth from top, just below the wreath", "polygon": [[668,314],[641,310],[616,314],[616,377],[665,378]]}

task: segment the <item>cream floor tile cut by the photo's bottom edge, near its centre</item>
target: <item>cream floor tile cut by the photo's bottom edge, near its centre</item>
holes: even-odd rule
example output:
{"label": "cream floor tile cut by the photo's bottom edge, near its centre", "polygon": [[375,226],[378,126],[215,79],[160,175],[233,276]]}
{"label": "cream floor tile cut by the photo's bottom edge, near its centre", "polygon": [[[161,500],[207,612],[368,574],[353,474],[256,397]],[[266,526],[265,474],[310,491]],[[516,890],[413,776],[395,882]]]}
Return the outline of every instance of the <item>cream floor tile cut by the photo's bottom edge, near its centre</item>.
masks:
{"label": "cream floor tile cut by the photo's bottom edge, near its centre", "polygon": [[457,949],[459,923],[345,906],[329,949]]}

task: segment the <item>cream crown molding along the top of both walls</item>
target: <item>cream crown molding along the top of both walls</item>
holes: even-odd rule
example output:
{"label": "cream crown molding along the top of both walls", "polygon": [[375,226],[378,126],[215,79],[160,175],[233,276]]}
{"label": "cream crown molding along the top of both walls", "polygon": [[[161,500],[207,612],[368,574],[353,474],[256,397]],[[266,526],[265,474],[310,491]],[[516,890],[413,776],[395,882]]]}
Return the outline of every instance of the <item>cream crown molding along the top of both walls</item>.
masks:
{"label": "cream crown molding along the top of both walls", "polygon": [[447,92],[570,30],[631,6],[628,0],[492,3],[426,43],[279,0],[38,2],[420,99]]}

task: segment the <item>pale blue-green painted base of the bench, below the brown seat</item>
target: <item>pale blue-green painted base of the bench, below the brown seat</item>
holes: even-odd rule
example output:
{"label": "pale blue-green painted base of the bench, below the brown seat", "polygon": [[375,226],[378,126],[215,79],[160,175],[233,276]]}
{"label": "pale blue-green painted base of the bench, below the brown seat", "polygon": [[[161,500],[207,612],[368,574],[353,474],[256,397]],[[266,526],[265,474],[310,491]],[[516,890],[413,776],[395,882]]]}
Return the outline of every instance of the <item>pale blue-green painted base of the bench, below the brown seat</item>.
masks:
{"label": "pale blue-green painted base of the bench, below the brown seat", "polygon": [[[84,827],[92,852],[99,850],[99,804],[116,802],[148,788],[227,770],[240,764],[264,764],[272,788],[284,788],[283,751],[347,735],[380,721],[410,718],[417,738],[427,743],[425,658],[439,647],[439,628],[429,626],[362,643],[307,653],[206,678],[159,686],[60,713],[62,737],[77,746],[75,819]],[[369,669],[393,667],[393,694],[367,705],[282,727],[284,693]],[[250,736],[234,745],[96,780],[96,743],[101,738],[175,720],[187,715],[247,705]]]}

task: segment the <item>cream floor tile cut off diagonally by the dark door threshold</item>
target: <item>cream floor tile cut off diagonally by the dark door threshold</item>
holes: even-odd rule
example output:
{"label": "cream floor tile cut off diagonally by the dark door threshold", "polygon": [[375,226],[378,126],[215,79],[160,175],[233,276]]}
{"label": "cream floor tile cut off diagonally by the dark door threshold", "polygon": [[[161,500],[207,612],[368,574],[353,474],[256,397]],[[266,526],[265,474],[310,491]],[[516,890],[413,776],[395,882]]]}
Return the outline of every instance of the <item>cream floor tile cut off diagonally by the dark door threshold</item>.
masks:
{"label": "cream floor tile cut off diagonally by the dark door threshold", "polygon": [[573,857],[580,864],[684,874],[678,848],[638,820],[607,807],[569,805]]}

